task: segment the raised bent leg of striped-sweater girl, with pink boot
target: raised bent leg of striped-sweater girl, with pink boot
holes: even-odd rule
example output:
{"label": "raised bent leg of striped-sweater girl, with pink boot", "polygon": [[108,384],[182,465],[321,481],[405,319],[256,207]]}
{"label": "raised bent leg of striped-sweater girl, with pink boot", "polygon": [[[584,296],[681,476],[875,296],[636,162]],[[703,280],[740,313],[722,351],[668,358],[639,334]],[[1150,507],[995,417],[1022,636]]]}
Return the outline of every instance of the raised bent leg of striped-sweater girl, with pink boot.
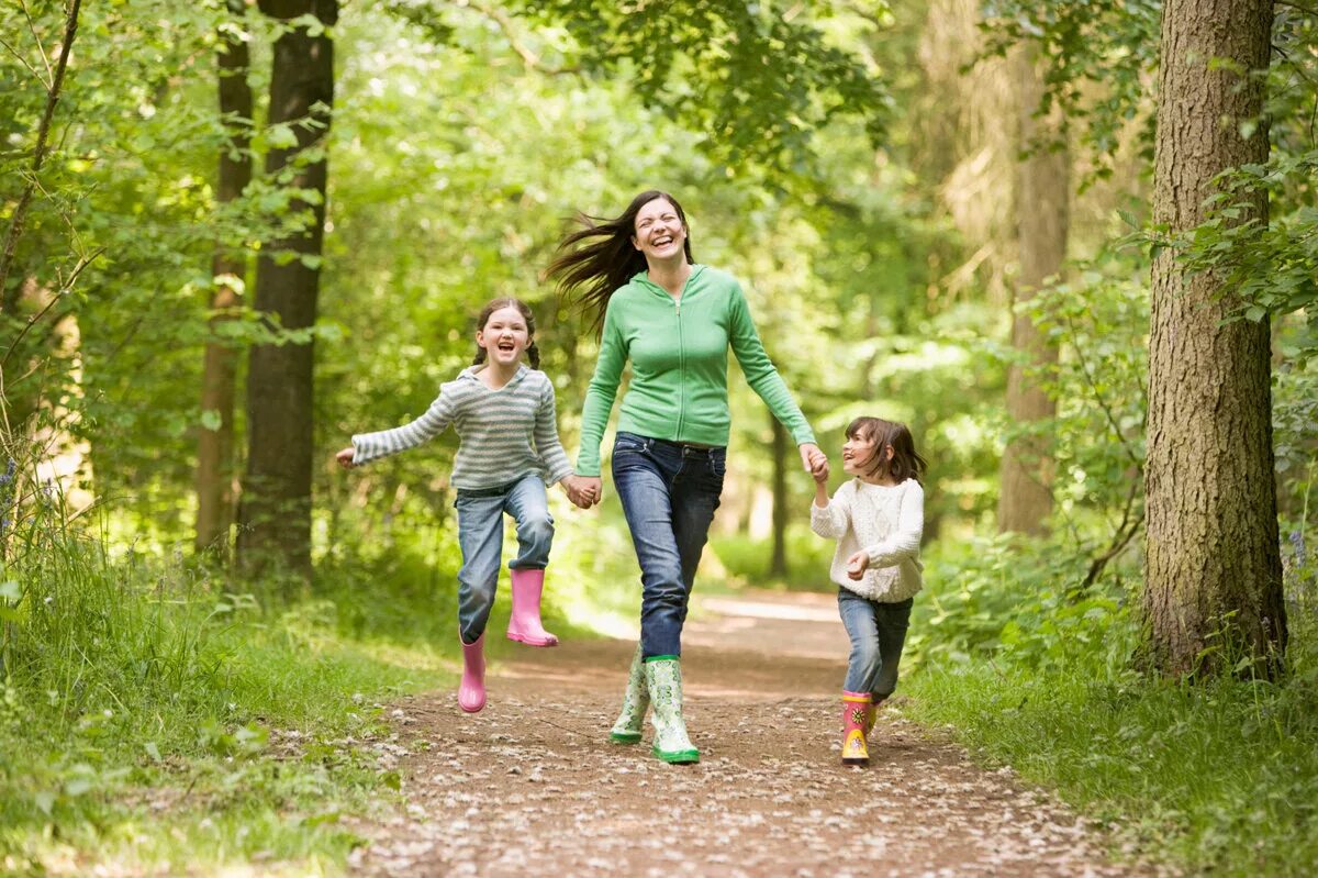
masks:
{"label": "raised bent leg of striped-sweater girl, with pink boot", "polygon": [[513,614],[507,620],[507,637],[529,646],[555,646],[559,638],[546,631],[540,622],[540,595],[554,543],[554,518],[539,475],[532,473],[518,481],[507,494],[505,509],[517,522],[518,547],[517,558],[509,563]]}

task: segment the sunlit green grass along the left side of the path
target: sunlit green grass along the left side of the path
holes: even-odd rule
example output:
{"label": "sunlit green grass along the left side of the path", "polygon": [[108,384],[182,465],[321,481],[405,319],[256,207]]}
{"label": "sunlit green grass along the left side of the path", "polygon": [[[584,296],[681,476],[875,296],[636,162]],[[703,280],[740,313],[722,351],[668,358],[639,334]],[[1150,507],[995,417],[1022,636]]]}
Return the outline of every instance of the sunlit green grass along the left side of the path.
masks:
{"label": "sunlit green grass along the left side of the path", "polygon": [[[86,535],[28,537],[0,577],[0,873],[341,871],[361,844],[341,819],[397,795],[381,705],[451,684],[456,650]],[[370,593],[390,613],[406,599]]]}

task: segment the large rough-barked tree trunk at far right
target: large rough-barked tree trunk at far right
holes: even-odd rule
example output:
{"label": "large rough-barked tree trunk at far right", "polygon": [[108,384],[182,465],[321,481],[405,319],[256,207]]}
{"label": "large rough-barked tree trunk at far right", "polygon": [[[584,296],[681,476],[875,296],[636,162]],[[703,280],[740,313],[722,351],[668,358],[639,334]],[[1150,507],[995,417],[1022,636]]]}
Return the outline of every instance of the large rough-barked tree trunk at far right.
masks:
{"label": "large rough-barked tree trunk at far right", "polygon": [[[1205,219],[1214,175],[1268,160],[1267,129],[1243,137],[1239,123],[1263,112],[1252,74],[1268,66],[1271,22],[1271,0],[1162,8],[1153,219],[1172,235]],[[1248,202],[1240,221],[1267,223],[1265,195]],[[1236,305],[1172,249],[1155,258],[1144,602],[1168,674],[1230,671],[1242,654],[1275,672],[1285,650],[1269,327],[1223,323]]]}

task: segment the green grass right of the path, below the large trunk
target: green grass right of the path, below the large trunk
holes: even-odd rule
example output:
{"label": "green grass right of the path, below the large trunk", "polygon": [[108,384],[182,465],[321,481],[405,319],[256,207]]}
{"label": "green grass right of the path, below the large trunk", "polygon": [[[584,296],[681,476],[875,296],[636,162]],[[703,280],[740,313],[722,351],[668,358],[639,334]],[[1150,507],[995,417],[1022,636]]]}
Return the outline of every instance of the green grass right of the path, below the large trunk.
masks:
{"label": "green grass right of the path, below the large trunk", "polygon": [[1311,684],[1110,683],[975,660],[903,688],[908,716],[950,724],[1144,856],[1214,875],[1310,875],[1318,862]]}

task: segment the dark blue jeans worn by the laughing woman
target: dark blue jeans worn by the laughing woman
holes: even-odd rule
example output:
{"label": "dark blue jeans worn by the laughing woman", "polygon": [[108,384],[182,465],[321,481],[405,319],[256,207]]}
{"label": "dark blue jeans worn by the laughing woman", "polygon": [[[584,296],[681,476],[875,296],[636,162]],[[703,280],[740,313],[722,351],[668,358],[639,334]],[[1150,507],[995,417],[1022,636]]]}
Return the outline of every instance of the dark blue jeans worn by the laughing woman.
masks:
{"label": "dark blue jeans worn by the laughing woman", "polygon": [[613,485],[641,563],[641,655],[681,655],[681,625],[718,509],[725,448],[619,432]]}

